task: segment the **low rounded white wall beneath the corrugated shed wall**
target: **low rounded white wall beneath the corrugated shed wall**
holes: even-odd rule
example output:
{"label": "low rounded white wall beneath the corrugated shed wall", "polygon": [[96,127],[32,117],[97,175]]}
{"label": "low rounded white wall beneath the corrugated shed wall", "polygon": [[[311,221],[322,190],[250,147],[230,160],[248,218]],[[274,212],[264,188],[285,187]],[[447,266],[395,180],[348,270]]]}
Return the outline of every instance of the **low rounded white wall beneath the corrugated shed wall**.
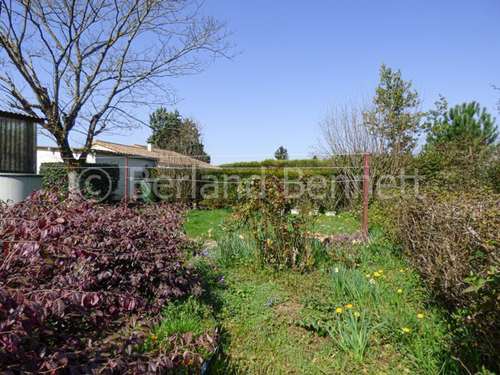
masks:
{"label": "low rounded white wall beneath the corrugated shed wall", "polygon": [[40,174],[0,173],[0,200],[20,202],[41,188]]}

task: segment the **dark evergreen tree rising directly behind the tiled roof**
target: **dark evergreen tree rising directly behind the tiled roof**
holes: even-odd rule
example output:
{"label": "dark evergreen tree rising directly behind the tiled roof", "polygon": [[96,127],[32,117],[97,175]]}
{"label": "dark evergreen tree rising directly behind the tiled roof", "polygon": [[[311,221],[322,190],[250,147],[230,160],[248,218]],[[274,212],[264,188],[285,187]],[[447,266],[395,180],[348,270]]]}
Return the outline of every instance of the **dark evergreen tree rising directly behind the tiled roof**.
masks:
{"label": "dark evergreen tree rising directly behind the tiled roof", "polygon": [[168,112],[164,107],[157,108],[149,115],[149,127],[153,132],[147,141],[153,146],[210,162],[210,155],[201,142],[199,125],[189,118],[182,118],[177,109]]}

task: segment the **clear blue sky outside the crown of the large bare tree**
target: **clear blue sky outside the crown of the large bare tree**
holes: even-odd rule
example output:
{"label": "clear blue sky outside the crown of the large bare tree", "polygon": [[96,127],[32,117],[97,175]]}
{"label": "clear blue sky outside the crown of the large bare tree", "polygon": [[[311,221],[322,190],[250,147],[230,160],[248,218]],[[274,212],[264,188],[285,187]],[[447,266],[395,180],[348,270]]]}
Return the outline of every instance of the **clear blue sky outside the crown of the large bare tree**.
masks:
{"label": "clear blue sky outside the crown of the large bare tree", "polygon": [[[241,54],[170,83],[180,113],[205,126],[214,164],[272,157],[281,144],[307,154],[321,110],[371,94],[382,60],[412,79],[424,109],[438,93],[491,111],[500,98],[498,0],[206,0],[205,10],[228,21]],[[149,132],[102,139],[144,143]]]}

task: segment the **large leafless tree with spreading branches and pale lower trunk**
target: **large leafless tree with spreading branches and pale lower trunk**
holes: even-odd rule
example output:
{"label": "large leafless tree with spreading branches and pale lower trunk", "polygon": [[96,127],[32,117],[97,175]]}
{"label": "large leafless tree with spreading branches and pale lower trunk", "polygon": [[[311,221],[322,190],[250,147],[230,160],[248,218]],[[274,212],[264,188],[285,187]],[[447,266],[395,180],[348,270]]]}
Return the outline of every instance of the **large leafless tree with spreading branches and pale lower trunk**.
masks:
{"label": "large leafless tree with spreading branches and pale lower trunk", "polygon": [[[94,136],[171,100],[165,78],[230,58],[228,36],[196,0],[0,0],[0,89],[11,108],[45,118],[76,189]],[[71,133],[83,136],[79,158]]]}

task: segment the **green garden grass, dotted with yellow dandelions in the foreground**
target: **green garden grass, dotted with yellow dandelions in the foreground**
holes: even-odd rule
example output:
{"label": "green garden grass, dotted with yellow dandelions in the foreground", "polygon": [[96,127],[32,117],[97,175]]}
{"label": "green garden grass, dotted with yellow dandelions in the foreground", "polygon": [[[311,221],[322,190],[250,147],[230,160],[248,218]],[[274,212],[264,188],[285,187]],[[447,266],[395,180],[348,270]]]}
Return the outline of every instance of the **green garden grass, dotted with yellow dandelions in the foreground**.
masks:
{"label": "green garden grass, dotted with yellow dandelions in the foreground", "polygon": [[[189,212],[195,220],[186,230],[199,236],[227,214]],[[330,233],[357,227],[342,216],[320,222]],[[340,249],[305,273],[257,265],[251,253],[228,264],[220,251],[193,259],[205,293],[169,305],[155,333],[201,334],[217,324],[221,344],[210,373],[459,373],[441,311],[380,233],[354,249],[355,263],[340,260]]]}

